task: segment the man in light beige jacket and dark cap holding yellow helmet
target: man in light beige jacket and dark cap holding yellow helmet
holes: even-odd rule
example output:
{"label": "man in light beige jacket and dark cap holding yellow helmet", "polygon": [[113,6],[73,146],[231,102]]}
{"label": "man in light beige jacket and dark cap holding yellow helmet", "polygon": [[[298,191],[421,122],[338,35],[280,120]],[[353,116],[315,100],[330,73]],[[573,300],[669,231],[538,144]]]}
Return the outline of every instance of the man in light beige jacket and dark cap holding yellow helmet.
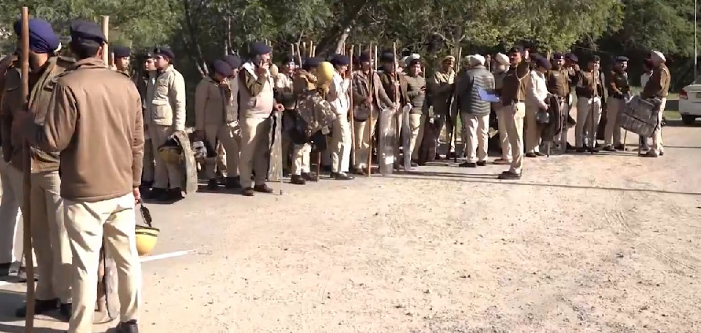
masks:
{"label": "man in light beige jacket and dark cap holding yellow helmet", "polygon": [[147,110],[144,126],[149,131],[156,157],[156,179],[151,197],[159,201],[182,199],[183,176],[179,165],[163,161],[158,153],[168,138],[185,130],[185,80],[172,61],[175,54],[170,48],[154,50],[156,80],[147,88]]}

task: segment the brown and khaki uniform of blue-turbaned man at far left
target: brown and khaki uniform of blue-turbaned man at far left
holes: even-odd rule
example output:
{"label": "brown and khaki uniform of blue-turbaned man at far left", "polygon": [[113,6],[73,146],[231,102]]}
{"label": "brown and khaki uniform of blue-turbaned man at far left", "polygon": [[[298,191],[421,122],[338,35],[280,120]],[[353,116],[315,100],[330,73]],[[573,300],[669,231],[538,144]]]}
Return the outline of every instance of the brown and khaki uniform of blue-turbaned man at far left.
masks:
{"label": "brown and khaki uniform of blue-turbaned man at far left", "polygon": [[[34,114],[36,124],[43,125],[56,80],[73,64],[73,59],[50,57],[41,73],[30,73],[29,111]],[[36,267],[41,276],[36,284],[35,297],[40,300],[60,299],[61,303],[69,304],[72,302],[72,254],[62,213],[59,156],[58,153],[32,147],[30,165],[23,163],[22,134],[11,132],[15,114],[23,112],[22,105],[22,78],[19,69],[13,69],[6,76],[0,111],[3,155],[13,168],[22,171],[28,167],[31,173],[29,197],[32,219],[29,222]]]}

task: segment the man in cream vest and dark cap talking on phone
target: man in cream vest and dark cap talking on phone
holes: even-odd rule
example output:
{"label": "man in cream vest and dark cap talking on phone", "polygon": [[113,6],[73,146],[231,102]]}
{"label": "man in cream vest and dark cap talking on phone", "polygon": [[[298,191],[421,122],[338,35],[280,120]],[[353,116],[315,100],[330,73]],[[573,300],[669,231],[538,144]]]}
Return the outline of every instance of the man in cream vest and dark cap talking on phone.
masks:
{"label": "man in cream vest and dark cap talking on phone", "polygon": [[[273,78],[270,68],[271,48],[264,43],[251,45],[251,60],[243,64],[240,75],[241,111],[241,185],[243,195],[252,197],[254,192],[272,193],[266,185],[268,175],[271,113],[273,108],[283,110],[282,104],[275,103]],[[255,170],[255,184],[251,176]]]}

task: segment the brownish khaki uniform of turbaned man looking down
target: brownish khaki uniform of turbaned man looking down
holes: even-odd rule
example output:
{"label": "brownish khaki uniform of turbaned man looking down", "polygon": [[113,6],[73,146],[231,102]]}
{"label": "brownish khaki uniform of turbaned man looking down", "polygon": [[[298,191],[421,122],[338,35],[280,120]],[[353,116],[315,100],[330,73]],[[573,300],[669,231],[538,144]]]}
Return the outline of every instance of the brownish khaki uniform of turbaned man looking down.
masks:
{"label": "brownish khaki uniform of turbaned man looking down", "polygon": [[[195,90],[195,129],[204,133],[211,148],[222,143],[229,177],[238,176],[240,137],[238,104],[234,101],[237,94],[238,80],[231,80],[229,88],[225,88],[212,78],[203,78]],[[205,162],[204,173],[207,179],[215,179],[215,162]]]}

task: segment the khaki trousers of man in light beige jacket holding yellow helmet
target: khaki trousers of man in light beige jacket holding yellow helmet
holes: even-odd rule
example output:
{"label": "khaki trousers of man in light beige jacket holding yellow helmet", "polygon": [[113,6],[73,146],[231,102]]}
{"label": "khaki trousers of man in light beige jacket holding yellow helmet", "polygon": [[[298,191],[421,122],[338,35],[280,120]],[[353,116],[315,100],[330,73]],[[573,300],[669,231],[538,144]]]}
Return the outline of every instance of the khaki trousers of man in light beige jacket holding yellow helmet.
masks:
{"label": "khaki trousers of man in light beige jacket holding yellow helmet", "polygon": [[161,154],[158,154],[158,147],[163,146],[165,141],[168,141],[168,136],[173,133],[172,127],[163,125],[149,125],[149,134],[151,134],[151,147],[154,150],[156,157],[156,173],[154,179],[154,187],[166,188],[182,188],[182,171],[175,164],[165,163],[161,159]]}

